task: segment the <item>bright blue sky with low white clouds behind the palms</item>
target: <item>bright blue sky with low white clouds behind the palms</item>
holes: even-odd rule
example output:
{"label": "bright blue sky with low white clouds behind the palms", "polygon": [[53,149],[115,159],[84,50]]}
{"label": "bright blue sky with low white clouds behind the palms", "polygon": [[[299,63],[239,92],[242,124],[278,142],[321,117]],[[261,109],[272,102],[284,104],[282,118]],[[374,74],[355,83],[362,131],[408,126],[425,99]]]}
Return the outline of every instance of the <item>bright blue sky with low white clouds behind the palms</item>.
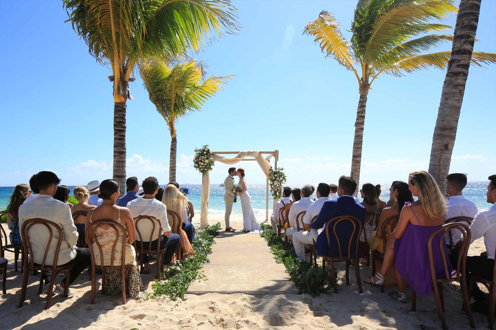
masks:
{"label": "bright blue sky with low white clouds behind the palms", "polygon": [[[201,182],[191,160],[203,144],[214,151],[278,149],[290,182],[333,182],[349,174],[357,82],[325,59],[302,29],[326,9],[349,38],[356,1],[233,2],[243,29],[196,57],[208,61],[211,73],[236,77],[177,124],[178,182]],[[475,50],[496,52],[495,12],[496,1],[482,2]],[[95,62],[65,19],[58,0],[0,2],[0,186],[26,183],[45,169],[65,185],[112,176],[111,71]],[[447,24],[454,26],[455,17]],[[496,172],[495,77],[494,65],[470,68],[450,169],[469,173],[470,181]],[[374,82],[362,183],[406,180],[411,171],[427,170],[443,79],[444,72],[433,69]],[[136,99],[127,102],[127,175],[140,181],[154,175],[165,184],[167,125],[139,78],[130,91]],[[248,182],[264,182],[256,162],[240,166]],[[227,168],[216,165],[211,182],[222,182]]]}

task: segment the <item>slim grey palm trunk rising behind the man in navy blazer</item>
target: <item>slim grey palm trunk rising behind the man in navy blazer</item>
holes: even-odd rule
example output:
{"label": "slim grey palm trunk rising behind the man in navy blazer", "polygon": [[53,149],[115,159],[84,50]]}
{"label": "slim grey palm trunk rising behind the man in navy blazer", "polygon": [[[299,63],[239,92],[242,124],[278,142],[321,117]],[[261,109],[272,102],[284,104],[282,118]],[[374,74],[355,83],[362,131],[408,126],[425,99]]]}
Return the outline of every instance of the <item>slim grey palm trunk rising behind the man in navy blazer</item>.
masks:
{"label": "slim grey palm trunk rising behind the man in navy blazer", "polygon": [[357,180],[357,189],[360,184],[360,166],[362,164],[362,143],[364,141],[365,108],[367,106],[367,95],[369,94],[368,83],[362,83],[360,89],[360,99],[358,100],[357,120],[355,121],[355,138],[353,140],[353,153],[351,156],[350,177]]}

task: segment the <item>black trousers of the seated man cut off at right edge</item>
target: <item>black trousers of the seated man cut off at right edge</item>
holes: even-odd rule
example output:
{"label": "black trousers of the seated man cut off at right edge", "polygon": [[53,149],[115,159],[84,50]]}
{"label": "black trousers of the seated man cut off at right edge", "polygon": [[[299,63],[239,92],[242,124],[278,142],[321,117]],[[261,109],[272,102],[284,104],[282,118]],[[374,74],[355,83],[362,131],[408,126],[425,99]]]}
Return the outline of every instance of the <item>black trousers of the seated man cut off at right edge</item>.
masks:
{"label": "black trousers of the seated man cut off at right edge", "polygon": [[[456,267],[458,254],[450,255],[449,260],[451,261],[451,265],[453,265],[453,267]],[[493,280],[494,266],[495,266],[495,260],[488,259],[488,257],[486,256],[467,257],[467,264],[466,264],[467,286],[470,284],[470,279],[473,275],[480,276],[489,281]],[[477,283],[474,283],[474,286],[472,287],[472,297],[474,297],[477,302],[484,302],[486,300],[484,292],[479,288],[479,285],[477,285]]]}

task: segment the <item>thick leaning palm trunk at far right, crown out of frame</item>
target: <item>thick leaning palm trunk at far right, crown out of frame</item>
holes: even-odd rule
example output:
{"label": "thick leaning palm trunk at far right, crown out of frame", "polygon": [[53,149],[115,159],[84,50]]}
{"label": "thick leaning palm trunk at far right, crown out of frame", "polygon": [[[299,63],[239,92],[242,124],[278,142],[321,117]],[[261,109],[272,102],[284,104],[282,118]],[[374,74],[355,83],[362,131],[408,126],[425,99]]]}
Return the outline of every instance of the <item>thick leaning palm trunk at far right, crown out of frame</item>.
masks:
{"label": "thick leaning palm trunk at far right, crown out of frame", "polygon": [[437,110],[429,173],[434,177],[443,194],[446,192],[446,176],[451,163],[470,58],[474,50],[480,8],[481,0],[460,1],[451,55]]}

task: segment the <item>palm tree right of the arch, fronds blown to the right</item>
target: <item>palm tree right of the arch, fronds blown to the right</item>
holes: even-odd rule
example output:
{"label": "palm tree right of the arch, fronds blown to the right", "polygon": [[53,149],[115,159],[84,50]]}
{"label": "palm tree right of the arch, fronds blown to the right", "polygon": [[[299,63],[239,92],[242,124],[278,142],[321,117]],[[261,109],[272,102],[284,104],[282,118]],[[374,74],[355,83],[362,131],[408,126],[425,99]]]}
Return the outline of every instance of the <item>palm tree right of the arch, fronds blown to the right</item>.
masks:
{"label": "palm tree right of the arch, fronds blown to the right", "polygon": [[[449,51],[423,52],[453,40],[452,35],[431,33],[451,29],[437,21],[456,10],[452,0],[359,0],[351,24],[351,42],[327,11],[305,26],[303,33],[314,37],[326,56],[334,57],[357,78],[360,98],[351,160],[351,177],[357,183],[367,95],[373,81],[382,73],[401,77],[430,67],[445,68]],[[471,63],[480,66],[494,59],[496,54],[474,52]]]}

